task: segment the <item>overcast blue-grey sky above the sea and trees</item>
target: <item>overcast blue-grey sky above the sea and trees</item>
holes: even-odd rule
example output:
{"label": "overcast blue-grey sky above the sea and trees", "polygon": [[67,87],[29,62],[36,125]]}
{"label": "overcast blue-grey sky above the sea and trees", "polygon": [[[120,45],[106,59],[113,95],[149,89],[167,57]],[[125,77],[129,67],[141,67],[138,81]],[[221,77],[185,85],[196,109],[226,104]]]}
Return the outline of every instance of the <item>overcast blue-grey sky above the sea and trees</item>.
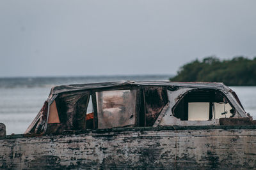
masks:
{"label": "overcast blue-grey sky above the sea and trees", "polygon": [[256,1],[0,1],[0,76],[175,74],[256,56]]}

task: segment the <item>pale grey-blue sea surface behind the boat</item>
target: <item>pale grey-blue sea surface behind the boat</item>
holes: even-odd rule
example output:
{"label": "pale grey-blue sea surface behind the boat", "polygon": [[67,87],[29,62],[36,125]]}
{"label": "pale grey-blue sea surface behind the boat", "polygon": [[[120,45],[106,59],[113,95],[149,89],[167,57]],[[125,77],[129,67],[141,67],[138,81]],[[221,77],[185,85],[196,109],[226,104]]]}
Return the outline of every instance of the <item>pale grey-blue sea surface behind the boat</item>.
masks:
{"label": "pale grey-blue sea surface behind the boat", "polygon": [[[146,76],[77,76],[0,78],[0,122],[7,134],[24,133],[47,99],[51,87],[74,83],[93,83],[121,80],[168,80],[170,75]],[[256,87],[231,87],[244,109],[256,118]]]}

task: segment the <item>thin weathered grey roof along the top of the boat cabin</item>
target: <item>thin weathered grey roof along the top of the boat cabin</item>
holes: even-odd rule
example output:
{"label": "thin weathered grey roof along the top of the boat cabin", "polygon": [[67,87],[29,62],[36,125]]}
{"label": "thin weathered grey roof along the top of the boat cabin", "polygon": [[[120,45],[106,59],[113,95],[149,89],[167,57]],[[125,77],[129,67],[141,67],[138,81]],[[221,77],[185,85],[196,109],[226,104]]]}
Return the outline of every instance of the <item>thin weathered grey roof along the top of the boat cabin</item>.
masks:
{"label": "thin weathered grey roof along the top of the boat cabin", "polygon": [[103,83],[86,83],[73,85],[59,85],[52,87],[51,94],[60,94],[63,92],[72,92],[77,90],[95,90],[95,89],[109,89],[113,87],[124,86],[174,86],[174,87],[190,87],[200,89],[218,89],[225,92],[230,90],[223,83],[216,82],[171,82],[171,81],[111,81]]}

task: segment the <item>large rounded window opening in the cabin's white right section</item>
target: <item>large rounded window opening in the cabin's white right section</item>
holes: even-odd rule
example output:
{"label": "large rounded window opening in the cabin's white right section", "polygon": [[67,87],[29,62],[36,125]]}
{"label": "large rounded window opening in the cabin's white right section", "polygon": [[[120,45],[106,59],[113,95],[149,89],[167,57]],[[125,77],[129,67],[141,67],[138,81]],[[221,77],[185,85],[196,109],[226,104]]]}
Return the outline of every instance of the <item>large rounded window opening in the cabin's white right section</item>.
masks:
{"label": "large rounded window opening in the cabin's white right section", "polygon": [[217,90],[188,92],[175,106],[173,115],[180,120],[212,120],[233,117],[235,110]]}

